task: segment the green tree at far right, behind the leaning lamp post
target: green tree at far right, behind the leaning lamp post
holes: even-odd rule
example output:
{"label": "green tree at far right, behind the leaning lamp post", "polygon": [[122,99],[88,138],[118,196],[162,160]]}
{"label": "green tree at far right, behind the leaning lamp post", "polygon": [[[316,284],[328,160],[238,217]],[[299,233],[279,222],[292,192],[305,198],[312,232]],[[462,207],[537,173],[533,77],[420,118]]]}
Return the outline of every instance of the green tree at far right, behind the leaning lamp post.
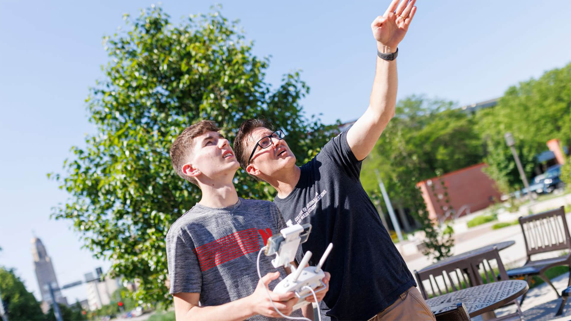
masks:
{"label": "green tree at far right, behind the leaning lamp post", "polygon": [[509,87],[493,109],[476,114],[477,131],[485,149],[491,178],[504,192],[523,187],[504,134],[511,132],[528,178],[534,176],[535,155],[547,149],[549,139],[558,138],[571,147],[571,63],[546,71],[539,79]]}

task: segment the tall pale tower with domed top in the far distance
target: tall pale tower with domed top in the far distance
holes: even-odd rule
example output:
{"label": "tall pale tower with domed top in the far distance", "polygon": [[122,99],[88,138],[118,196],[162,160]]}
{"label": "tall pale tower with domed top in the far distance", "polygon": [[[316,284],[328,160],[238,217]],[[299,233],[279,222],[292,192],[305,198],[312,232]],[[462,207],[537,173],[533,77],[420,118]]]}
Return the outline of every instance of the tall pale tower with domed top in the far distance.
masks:
{"label": "tall pale tower with domed top in the far distance", "polygon": [[43,306],[49,307],[49,304],[53,302],[48,288],[49,284],[54,289],[55,301],[67,306],[67,299],[62,296],[62,292],[59,290],[58,279],[55,277],[54,266],[50,256],[47,255],[46,247],[38,238],[32,238],[31,244],[38,287],[42,294],[42,301],[46,303]]}

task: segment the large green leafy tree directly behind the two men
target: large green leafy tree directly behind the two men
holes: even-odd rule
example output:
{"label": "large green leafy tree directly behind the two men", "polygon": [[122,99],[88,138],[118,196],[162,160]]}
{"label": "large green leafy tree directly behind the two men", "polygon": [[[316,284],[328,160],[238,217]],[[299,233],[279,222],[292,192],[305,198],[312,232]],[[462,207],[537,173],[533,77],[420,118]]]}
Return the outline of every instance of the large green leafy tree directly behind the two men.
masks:
{"label": "large green leafy tree directly behind the two men", "polygon": [[[272,87],[269,59],[252,54],[237,22],[219,11],[179,25],[160,7],[124,16],[126,30],[104,38],[110,61],[86,99],[97,133],[72,147],[63,174],[50,174],[69,192],[53,216],[73,222],[85,247],[112,262],[112,274],[138,280],[136,299],[171,303],[165,286],[164,238],[200,199],[198,187],[172,170],[176,136],[200,119],[233,139],[240,123],[265,116],[287,133],[299,163],[315,155],[332,126],[307,118],[299,104],[309,91],[299,73]],[[239,196],[270,199],[273,190],[236,175]]]}

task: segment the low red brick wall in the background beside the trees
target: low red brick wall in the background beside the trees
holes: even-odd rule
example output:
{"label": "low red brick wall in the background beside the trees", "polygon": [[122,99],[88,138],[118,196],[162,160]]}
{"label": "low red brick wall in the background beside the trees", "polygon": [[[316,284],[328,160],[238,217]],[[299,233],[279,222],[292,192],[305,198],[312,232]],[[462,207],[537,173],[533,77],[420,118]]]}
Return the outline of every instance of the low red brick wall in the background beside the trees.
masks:
{"label": "low red brick wall in the background beside the trees", "polygon": [[[429,217],[440,218],[447,211],[447,207],[459,211],[464,205],[469,206],[471,212],[475,212],[493,204],[490,198],[500,200],[501,193],[494,188],[494,181],[482,172],[482,168],[486,166],[484,163],[477,164],[418,183],[417,186],[420,187],[427,204]],[[444,188],[441,182],[444,182],[447,188]],[[449,203],[446,202],[445,191],[448,192]],[[466,211],[463,211],[460,216],[465,214]]]}

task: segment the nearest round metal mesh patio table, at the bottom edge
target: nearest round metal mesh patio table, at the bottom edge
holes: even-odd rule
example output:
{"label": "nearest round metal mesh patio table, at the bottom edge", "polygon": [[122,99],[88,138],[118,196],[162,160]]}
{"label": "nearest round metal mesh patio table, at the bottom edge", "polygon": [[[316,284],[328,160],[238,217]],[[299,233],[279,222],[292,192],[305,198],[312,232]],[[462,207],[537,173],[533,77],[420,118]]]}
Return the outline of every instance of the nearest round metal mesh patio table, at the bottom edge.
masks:
{"label": "nearest round metal mesh patio table, at the bottom edge", "polygon": [[464,303],[470,318],[493,311],[529,290],[524,280],[498,281],[450,292],[426,300],[434,314],[453,310]]}

